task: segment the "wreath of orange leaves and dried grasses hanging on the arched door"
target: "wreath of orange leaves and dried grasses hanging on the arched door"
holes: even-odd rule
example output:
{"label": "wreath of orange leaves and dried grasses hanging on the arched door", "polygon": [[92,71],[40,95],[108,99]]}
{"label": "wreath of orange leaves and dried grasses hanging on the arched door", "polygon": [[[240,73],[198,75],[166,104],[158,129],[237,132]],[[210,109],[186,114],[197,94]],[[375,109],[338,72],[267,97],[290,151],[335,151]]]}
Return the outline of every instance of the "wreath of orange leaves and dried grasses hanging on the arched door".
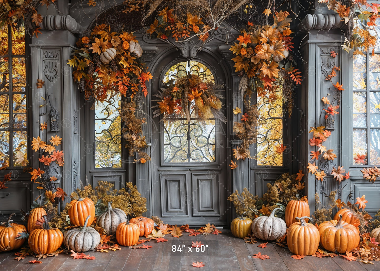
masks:
{"label": "wreath of orange leaves and dried grasses hanging on the arched door", "polygon": [[162,120],[176,121],[180,118],[190,118],[204,122],[210,118],[218,118],[226,122],[226,117],[222,109],[223,96],[216,91],[222,88],[222,85],[215,85],[211,81],[201,79],[201,77],[190,74],[179,77],[175,82],[170,80],[156,97],[160,98],[154,111],[154,117],[163,114]]}

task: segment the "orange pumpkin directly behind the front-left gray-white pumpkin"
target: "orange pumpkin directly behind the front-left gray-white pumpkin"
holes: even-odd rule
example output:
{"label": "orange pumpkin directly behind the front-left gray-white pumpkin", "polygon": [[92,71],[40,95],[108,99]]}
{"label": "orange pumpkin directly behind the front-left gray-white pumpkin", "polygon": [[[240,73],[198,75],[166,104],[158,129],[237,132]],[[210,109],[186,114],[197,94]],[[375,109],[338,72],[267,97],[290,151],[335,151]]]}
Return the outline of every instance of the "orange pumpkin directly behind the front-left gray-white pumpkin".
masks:
{"label": "orange pumpkin directly behind the front-left gray-white pumpkin", "polygon": [[68,210],[70,223],[83,227],[87,216],[90,216],[86,225],[86,227],[89,227],[95,219],[95,204],[92,199],[79,198],[78,200],[71,200],[70,204],[71,207]]}

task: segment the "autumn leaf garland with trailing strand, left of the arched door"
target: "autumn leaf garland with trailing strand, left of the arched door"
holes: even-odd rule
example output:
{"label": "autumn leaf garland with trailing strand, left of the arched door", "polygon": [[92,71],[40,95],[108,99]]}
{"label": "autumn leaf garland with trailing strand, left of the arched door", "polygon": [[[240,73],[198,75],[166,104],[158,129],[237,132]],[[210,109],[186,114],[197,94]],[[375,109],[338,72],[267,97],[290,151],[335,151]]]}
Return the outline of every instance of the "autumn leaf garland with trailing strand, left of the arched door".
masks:
{"label": "autumn leaf garland with trailing strand, left of the arched door", "polygon": [[131,33],[112,31],[110,25],[98,25],[89,36],[77,41],[79,49],[74,50],[67,64],[74,68],[74,79],[86,99],[93,97],[101,102],[117,93],[131,98],[127,107],[133,110],[119,112],[127,127],[122,131],[127,139],[125,147],[129,148],[131,156],[135,152],[139,154],[140,158],[135,161],[146,162],[150,157],[141,151],[146,147],[141,128],[145,121],[136,117],[133,98],[139,91],[147,96],[146,82],[153,77],[139,58],[142,49],[135,38]]}

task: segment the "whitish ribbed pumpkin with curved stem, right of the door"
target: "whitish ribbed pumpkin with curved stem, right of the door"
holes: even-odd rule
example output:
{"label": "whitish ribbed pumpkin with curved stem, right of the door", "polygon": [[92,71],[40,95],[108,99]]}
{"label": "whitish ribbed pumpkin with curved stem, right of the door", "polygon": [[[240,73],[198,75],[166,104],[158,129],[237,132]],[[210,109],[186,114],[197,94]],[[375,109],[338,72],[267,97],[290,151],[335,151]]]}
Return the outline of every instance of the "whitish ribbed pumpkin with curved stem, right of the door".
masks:
{"label": "whitish ribbed pumpkin with curved stem, right of the door", "polygon": [[286,223],[274,213],[281,208],[275,208],[270,216],[259,216],[252,222],[252,232],[262,240],[275,240],[286,233]]}

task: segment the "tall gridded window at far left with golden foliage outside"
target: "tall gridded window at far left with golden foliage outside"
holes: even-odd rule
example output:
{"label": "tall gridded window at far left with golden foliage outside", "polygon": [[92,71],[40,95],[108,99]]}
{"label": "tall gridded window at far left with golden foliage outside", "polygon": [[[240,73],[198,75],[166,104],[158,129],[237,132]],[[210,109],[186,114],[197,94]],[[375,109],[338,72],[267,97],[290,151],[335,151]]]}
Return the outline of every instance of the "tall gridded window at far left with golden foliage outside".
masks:
{"label": "tall gridded window at far left with golden foliage outside", "polygon": [[[25,29],[0,29],[0,167],[23,165],[27,151]],[[21,164],[19,164],[21,162]]]}

